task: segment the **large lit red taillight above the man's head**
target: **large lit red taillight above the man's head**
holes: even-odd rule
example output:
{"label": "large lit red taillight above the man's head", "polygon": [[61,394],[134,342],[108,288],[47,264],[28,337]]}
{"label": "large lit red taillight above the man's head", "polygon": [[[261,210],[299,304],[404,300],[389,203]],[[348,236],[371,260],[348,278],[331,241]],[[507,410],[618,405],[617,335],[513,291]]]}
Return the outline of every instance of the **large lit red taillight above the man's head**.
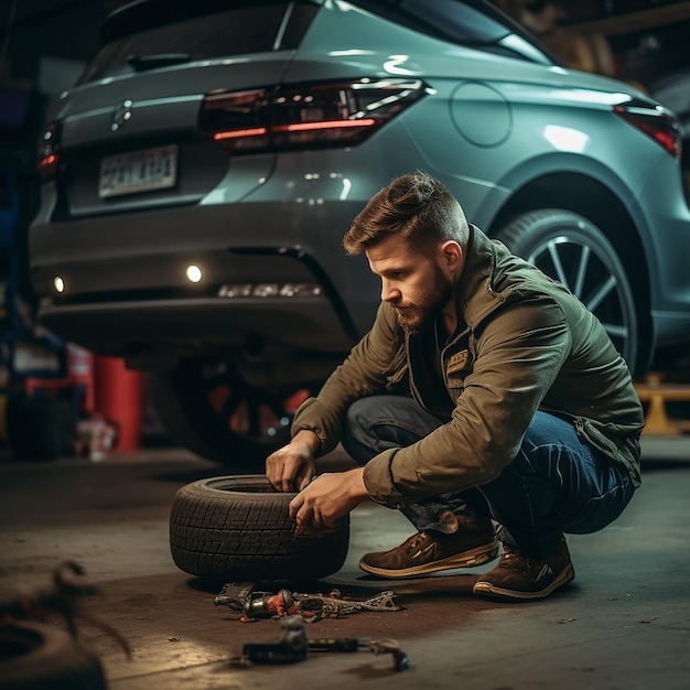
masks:
{"label": "large lit red taillight above the man's head", "polygon": [[359,79],[211,93],[200,127],[234,155],[351,147],[428,93],[421,79]]}

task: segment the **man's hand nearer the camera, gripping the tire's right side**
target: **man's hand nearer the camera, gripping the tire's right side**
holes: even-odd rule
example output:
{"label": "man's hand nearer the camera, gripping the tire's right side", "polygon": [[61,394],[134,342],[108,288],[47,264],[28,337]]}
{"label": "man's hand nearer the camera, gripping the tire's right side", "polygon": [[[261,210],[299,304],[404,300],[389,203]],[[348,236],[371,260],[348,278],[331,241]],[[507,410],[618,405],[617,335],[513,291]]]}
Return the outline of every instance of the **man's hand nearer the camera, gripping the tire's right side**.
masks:
{"label": "man's hand nearer the camera, gripping the tire's right side", "polygon": [[364,467],[356,467],[316,477],[290,502],[290,517],[298,529],[335,529],[369,495],[363,476]]}

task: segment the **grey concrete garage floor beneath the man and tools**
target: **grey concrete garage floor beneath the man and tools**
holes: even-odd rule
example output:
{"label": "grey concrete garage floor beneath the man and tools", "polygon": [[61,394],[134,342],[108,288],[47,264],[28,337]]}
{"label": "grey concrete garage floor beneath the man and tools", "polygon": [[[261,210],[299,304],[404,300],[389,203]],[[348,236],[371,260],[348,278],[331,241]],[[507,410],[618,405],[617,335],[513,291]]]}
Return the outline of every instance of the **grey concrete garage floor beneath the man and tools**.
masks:
{"label": "grey concrete garage floor beneath the man and tools", "polygon": [[[99,463],[1,461],[0,601],[46,587],[66,559],[83,564],[103,591],[85,611],[132,648],[128,660],[103,630],[80,626],[111,690],[688,690],[690,436],[651,436],[644,449],[643,488],[615,524],[569,538],[575,581],[542,602],[474,599],[473,580],[487,567],[418,580],[368,579],[357,568],[362,553],[397,546],[411,529],[395,511],[359,506],[344,567],[313,591],[336,586],[364,599],[392,589],[405,610],[323,619],[308,632],[393,638],[410,659],[403,672],[393,670],[389,655],[368,651],[234,668],[229,660],[245,643],[276,642],[281,630],[274,621],[237,621],[214,605],[216,590],[172,562],[168,520],[176,489],[231,474],[180,450],[114,454]],[[323,463],[343,465],[347,459],[337,452]]]}

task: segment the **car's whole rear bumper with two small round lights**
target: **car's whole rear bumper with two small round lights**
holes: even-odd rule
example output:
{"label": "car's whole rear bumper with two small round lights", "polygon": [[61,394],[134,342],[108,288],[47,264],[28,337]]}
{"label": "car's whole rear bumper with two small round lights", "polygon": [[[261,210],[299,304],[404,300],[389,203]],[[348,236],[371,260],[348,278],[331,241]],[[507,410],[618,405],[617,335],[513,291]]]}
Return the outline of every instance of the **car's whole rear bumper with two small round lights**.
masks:
{"label": "car's whole rear bumper with two small round lights", "polygon": [[[364,257],[344,260],[341,247],[362,205],[285,200],[39,217],[30,235],[39,319],[63,339],[117,356],[235,346],[254,335],[346,353],[379,295]],[[187,278],[192,265],[198,282]],[[244,295],[228,290],[238,287]]]}

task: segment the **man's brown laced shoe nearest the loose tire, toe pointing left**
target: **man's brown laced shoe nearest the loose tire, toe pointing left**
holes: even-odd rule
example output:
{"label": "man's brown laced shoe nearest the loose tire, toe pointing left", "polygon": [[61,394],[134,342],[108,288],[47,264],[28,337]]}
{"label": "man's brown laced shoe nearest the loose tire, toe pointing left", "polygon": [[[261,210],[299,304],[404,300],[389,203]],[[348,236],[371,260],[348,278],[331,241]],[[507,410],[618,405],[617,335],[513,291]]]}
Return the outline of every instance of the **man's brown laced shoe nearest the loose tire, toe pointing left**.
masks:
{"label": "man's brown laced shoe nearest the loose tire, toe pointing left", "polygon": [[494,526],[489,518],[461,524],[452,533],[428,530],[417,532],[398,548],[365,554],[359,568],[380,578],[412,578],[481,565],[498,556]]}

